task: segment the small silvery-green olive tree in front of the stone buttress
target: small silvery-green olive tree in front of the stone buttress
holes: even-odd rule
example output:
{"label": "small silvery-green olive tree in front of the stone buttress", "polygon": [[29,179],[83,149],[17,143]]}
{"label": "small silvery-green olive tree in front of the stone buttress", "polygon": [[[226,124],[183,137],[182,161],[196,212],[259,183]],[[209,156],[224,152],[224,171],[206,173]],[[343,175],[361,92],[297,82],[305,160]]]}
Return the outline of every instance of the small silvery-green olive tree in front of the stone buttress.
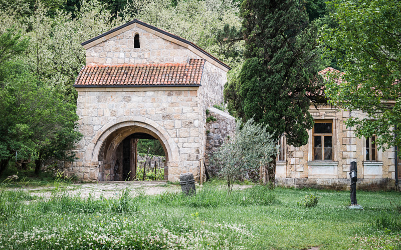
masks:
{"label": "small silvery-green olive tree in front of the stone buttress", "polygon": [[227,140],[212,155],[211,163],[221,168],[220,174],[227,179],[229,192],[236,177],[248,169],[259,169],[260,165],[270,165],[271,155],[277,153],[278,138],[267,131],[267,127],[248,119],[237,121],[233,137]]}

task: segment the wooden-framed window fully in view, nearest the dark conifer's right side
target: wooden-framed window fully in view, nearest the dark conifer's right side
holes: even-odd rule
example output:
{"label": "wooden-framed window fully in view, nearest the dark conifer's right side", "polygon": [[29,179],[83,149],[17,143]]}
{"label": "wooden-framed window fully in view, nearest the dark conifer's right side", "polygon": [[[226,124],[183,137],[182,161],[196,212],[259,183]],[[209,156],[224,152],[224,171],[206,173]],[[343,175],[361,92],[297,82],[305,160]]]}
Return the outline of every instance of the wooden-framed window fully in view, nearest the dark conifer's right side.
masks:
{"label": "wooden-framed window fully in view, nearest the dark conifer's right side", "polygon": [[333,160],[333,120],[315,120],[312,143],[313,160]]}

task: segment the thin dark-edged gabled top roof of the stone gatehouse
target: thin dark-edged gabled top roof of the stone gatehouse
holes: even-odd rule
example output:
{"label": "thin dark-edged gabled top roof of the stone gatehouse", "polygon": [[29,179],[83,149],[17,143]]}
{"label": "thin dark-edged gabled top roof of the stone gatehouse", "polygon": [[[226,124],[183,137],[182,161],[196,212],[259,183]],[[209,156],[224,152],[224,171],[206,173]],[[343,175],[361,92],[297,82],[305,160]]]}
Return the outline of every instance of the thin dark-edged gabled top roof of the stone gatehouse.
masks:
{"label": "thin dark-edged gabled top roof of the stone gatehouse", "polygon": [[[167,32],[167,31],[165,31],[165,30],[163,30],[163,29],[160,29],[160,28],[158,28],[158,27],[155,27],[155,26],[153,26],[153,25],[150,25],[150,24],[148,24],[148,23],[146,23],[146,22],[140,21],[140,20],[138,20],[138,19],[133,19],[132,21],[129,21],[129,22],[125,23],[125,24],[122,24],[121,26],[118,26],[118,27],[116,27],[116,28],[113,28],[113,29],[111,29],[111,30],[109,30],[109,31],[107,31],[107,32],[104,32],[103,34],[100,34],[100,35],[98,35],[98,36],[96,36],[96,37],[94,37],[94,38],[92,38],[92,39],[89,39],[89,40],[87,40],[87,41],[84,41],[84,42],[81,43],[81,45],[83,45],[83,46],[85,46],[85,45],[88,46],[91,42],[94,42],[94,41],[96,41],[96,40],[98,40],[98,39],[101,39],[101,38],[104,37],[104,36],[107,36],[107,35],[109,35],[109,34],[112,34],[112,33],[114,33],[114,32],[117,32],[117,31],[119,31],[119,30],[121,30],[121,29],[123,29],[123,28],[125,28],[125,27],[127,27],[127,26],[129,26],[129,25],[131,25],[131,24],[134,24],[134,23],[140,24],[140,25],[142,25],[142,26],[145,26],[145,27],[147,27],[147,28],[150,28],[150,29],[156,31],[157,33],[159,33],[159,36],[161,36],[161,37],[162,37],[163,35],[165,35],[165,36],[168,36],[168,37],[172,38],[173,40],[179,41],[179,44],[180,44],[180,45],[181,45],[182,43],[183,43],[183,44],[186,44],[186,46],[187,46],[188,48],[191,47],[191,48],[193,48],[194,50],[197,50],[198,52],[201,52],[201,53],[205,54],[205,55],[208,56],[210,59],[212,59],[213,61],[217,62],[220,66],[223,66],[224,68],[226,68],[227,71],[231,69],[231,67],[230,67],[229,65],[227,65],[227,64],[224,63],[224,62],[222,62],[221,60],[219,60],[218,58],[216,58],[216,57],[213,56],[212,54],[208,53],[208,52],[205,51],[203,48],[197,46],[197,45],[194,44],[193,42],[188,41],[188,40],[186,40],[186,39],[184,39],[184,38],[182,38],[182,37],[179,37],[178,35],[175,35],[175,34],[172,34],[172,33],[170,33],[170,32]],[[157,35],[157,33],[155,33],[155,34]],[[165,38],[165,37],[162,37],[162,38]],[[103,40],[101,40],[101,41],[103,41]],[[88,46],[88,47],[90,47],[90,46]],[[88,47],[85,47],[85,48],[88,48]]]}

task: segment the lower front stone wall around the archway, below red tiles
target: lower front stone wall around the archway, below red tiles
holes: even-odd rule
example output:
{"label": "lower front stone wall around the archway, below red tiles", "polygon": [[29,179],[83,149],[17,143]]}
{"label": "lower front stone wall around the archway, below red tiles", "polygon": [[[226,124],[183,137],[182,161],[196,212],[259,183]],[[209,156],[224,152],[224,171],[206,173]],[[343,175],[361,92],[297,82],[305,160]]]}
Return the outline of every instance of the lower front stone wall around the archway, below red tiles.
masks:
{"label": "lower front stone wall around the archway, below red tiles", "polygon": [[84,137],[78,145],[79,160],[64,170],[75,172],[79,178],[87,180],[106,180],[110,170],[101,169],[99,162],[93,160],[97,159],[97,155],[92,155],[95,154],[94,148],[101,143],[96,138],[107,134],[108,127],[113,124],[123,126],[129,120],[140,120],[151,122],[152,127],[168,139],[173,154],[169,155],[167,163],[169,180],[177,180],[179,173],[186,171],[198,175],[201,143],[197,87],[146,89],[77,88],[77,114]]}

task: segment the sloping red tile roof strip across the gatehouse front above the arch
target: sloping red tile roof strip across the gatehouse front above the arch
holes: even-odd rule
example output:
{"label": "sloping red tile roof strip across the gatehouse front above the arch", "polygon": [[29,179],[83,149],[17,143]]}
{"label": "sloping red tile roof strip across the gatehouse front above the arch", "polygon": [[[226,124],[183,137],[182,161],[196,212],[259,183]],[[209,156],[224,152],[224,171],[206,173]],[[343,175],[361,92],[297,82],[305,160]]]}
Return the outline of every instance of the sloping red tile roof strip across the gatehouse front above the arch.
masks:
{"label": "sloping red tile roof strip across the gatehouse front above the arch", "polygon": [[85,86],[200,86],[205,59],[188,63],[86,65],[75,80]]}

